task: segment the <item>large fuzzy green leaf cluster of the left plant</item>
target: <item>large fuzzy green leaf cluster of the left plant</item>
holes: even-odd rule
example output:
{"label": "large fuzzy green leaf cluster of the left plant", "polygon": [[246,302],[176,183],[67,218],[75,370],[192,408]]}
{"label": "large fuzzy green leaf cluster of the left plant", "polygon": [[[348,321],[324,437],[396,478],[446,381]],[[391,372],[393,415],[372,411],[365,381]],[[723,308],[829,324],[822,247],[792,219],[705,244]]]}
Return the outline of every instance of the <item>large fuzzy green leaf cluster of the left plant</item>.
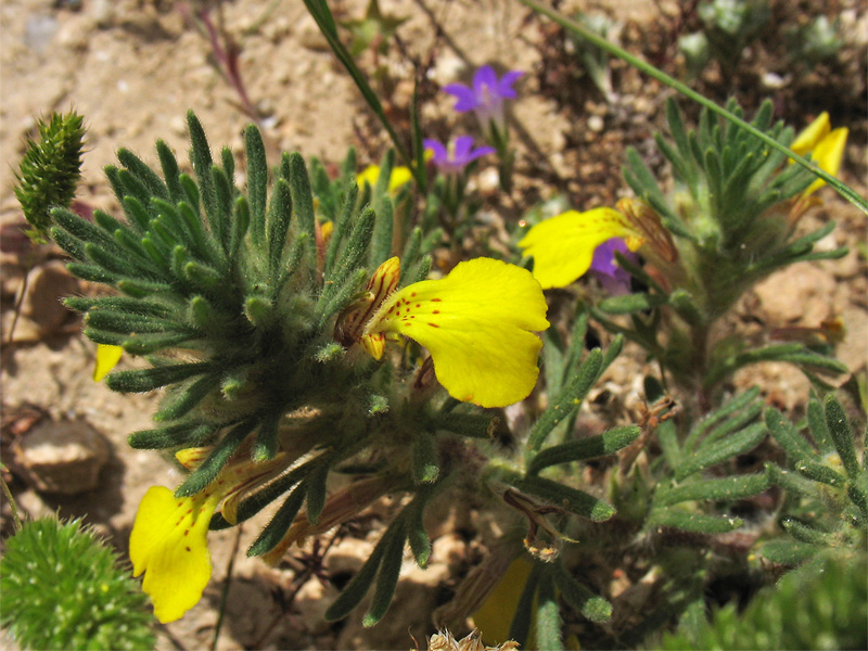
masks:
{"label": "large fuzzy green leaf cluster of the left plant", "polygon": [[[341,335],[334,321],[362,297],[374,268],[394,254],[395,227],[411,233],[403,260],[405,284],[427,273],[435,240],[406,228],[393,212],[386,183],[393,152],[383,161],[381,182],[372,191],[366,188],[362,202],[353,152],[335,180],[319,162],[308,168],[295,153],[284,154],[270,173],[261,136],[251,126],[245,131],[248,184],[242,192],[232,182],[228,150],[215,162],[192,113],[188,124],[194,176],[180,171],[162,142],[162,175],[122,150],[120,167],[110,166],[106,174],[126,219],[97,210],[89,222],[53,209],[50,232],[73,256],[69,270],[119,292],[74,296],[66,305],[84,314],[91,340],[119,345],[150,362],[110,373],[110,388],[164,388],[155,414],[159,426],[133,433],[133,447],[209,446],[178,487],[179,497],[202,492],[241,455],[265,462],[288,450],[292,458],[311,454],[239,505],[241,522],[282,500],[250,554],[273,550],[303,518],[305,505],[308,522],[316,524],[327,508],[329,475],[343,461],[361,456],[378,468],[387,459],[387,470],[407,476],[407,487],[416,481],[412,508],[383,541],[366,620],[373,624],[391,601],[404,542],[410,540],[420,564],[430,553],[424,503],[452,471],[441,461],[443,437],[456,432],[487,438],[492,418],[441,413],[436,403],[410,400],[414,390],[408,373],[394,380],[386,365],[348,359],[335,341]],[[334,220],[328,242],[315,206]],[[391,409],[395,404],[404,407]],[[305,414],[294,417],[302,407]],[[219,513],[212,521],[214,528],[229,524]],[[363,595],[370,585],[360,582],[353,585]],[[347,599],[343,602],[357,602]]]}

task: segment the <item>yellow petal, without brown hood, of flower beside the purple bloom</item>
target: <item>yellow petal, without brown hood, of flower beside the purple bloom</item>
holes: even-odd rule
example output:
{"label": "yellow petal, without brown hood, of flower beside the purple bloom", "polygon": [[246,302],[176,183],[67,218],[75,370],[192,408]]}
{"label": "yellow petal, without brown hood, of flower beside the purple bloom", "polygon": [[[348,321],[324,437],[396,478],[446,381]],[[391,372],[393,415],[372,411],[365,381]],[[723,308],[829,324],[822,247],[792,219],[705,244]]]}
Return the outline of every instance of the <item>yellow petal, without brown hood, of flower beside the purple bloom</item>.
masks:
{"label": "yellow petal, without brown hood, of flower beside the purple bloom", "polygon": [[533,227],[519,242],[525,255],[534,256],[534,278],[544,290],[565,288],[585,275],[593,250],[611,238],[623,238],[630,251],[643,242],[629,220],[612,208],[585,213],[567,210]]}

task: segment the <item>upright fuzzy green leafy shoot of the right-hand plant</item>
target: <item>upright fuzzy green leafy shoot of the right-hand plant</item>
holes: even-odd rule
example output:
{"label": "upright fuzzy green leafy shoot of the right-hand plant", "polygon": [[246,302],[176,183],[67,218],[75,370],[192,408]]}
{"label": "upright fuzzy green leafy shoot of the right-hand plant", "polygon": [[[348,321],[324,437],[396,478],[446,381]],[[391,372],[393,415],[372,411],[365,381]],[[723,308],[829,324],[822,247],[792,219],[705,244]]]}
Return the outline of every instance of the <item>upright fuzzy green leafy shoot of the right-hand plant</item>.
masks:
{"label": "upright fuzzy green leafy shoot of the right-hand plant", "polygon": [[[735,101],[727,110],[742,115]],[[666,104],[666,116],[668,135],[656,133],[655,142],[672,167],[675,188],[664,190],[636,150],[627,151],[624,168],[624,179],[653,208],[631,219],[652,233],[642,251],[666,282],[618,255],[618,263],[647,289],[605,298],[590,308],[591,316],[638,343],[679,385],[703,396],[739,369],[761,361],[796,365],[817,383],[818,373],[845,372],[828,345],[758,347],[742,337],[713,336],[714,323],[773,271],[840,258],[846,250],[815,251],[834,228],[831,222],[794,235],[794,225],[809,205],[802,194],[813,180],[807,170],[788,165],[783,153],[709,110],[695,129],[685,125],[674,100]],[[782,144],[793,138],[782,123],[773,124],[770,102],[761,105],[750,126]],[[653,224],[653,213],[660,225]],[[628,320],[613,320],[613,315]]]}

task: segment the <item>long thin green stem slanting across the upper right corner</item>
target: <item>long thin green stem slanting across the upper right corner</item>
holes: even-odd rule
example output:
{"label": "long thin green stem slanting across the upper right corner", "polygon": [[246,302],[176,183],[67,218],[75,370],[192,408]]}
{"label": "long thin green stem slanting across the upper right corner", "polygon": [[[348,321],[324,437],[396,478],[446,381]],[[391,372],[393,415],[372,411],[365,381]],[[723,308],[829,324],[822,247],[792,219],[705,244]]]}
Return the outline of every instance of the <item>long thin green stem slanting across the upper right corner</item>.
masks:
{"label": "long thin green stem slanting across the upper right corner", "polygon": [[793,161],[799,163],[802,167],[808,169],[812,174],[818,176],[824,181],[829,183],[829,186],[834,188],[834,190],[841,196],[846,199],[850,203],[852,203],[854,206],[859,208],[863,213],[868,215],[868,201],[866,201],[863,196],[860,196],[858,193],[856,193],[856,191],[853,190],[850,186],[847,186],[846,183],[841,182],[840,180],[834,178],[832,175],[830,175],[828,171],[825,171],[825,170],[820,169],[819,167],[817,167],[813,163],[808,162],[806,158],[800,156],[799,154],[796,154],[795,152],[790,150],[790,148],[782,145],[780,142],[776,141],[774,138],[770,138],[766,133],[763,133],[760,129],[757,129],[757,128],[753,127],[752,125],[748,124],[746,122],[744,122],[743,119],[741,119],[737,115],[733,115],[732,113],[730,113],[729,111],[727,111],[723,106],[717,105],[712,100],[710,100],[710,99],[703,97],[702,94],[698,93],[695,90],[691,89],[689,86],[687,86],[685,84],[681,84],[680,81],[678,81],[677,79],[675,79],[673,77],[669,77],[666,73],[664,73],[663,71],[661,71],[658,67],[654,67],[653,65],[651,65],[647,61],[644,61],[642,59],[639,59],[638,56],[635,56],[635,55],[630,54],[626,50],[623,50],[622,48],[618,48],[616,44],[609,42],[604,38],[601,38],[601,37],[597,36],[592,31],[589,31],[588,29],[586,29],[585,27],[583,27],[578,23],[575,23],[575,22],[571,21],[570,18],[567,18],[563,14],[554,11],[553,9],[549,9],[548,7],[544,7],[539,2],[536,2],[535,0],[519,0],[519,2],[521,2],[522,4],[524,4],[526,7],[529,7],[531,9],[533,9],[537,13],[541,13],[542,15],[548,16],[549,18],[551,18],[552,21],[558,23],[564,29],[569,29],[570,31],[572,31],[576,36],[579,36],[579,37],[590,41],[596,47],[600,48],[604,52],[608,52],[612,56],[617,56],[618,59],[621,59],[623,61],[626,61],[628,64],[630,64],[635,68],[643,72],[649,77],[651,77],[653,79],[656,79],[658,81],[660,81],[662,84],[665,84],[669,88],[673,88],[673,89],[677,90],[678,92],[680,92],[681,94],[690,98],[694,102],[698,102],[702,106],[705,106],[709,111],[713,111],[717,115],[720,115],[722,117],[728,119],[733,125],[737,125],[737,126],[741,127],[742,129],[746,130],[752,136],[755,136],[760,140],[765,142],[768,146],[770,146],[773,149],[776,149],[779,152],[784,153],[787,156],[789,156],[790,158],[792,158]]}

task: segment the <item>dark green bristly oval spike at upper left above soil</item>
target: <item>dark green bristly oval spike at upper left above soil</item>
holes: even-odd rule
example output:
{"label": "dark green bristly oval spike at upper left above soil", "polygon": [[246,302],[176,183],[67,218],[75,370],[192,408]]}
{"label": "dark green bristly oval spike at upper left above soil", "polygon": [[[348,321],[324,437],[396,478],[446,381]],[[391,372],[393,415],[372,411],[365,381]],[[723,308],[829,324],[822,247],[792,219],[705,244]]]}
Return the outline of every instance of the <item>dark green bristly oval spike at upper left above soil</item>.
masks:
{"label": "dark green bristly oval spike at upper left above soil", "polygon": [[37,122],[38,140],[27,140],[27,151],[15,173],[15,196],[33,227],[30,238],[43,239],[52,224],[51,208],[67,207],[81,176],[84,118],[71,111]]}

